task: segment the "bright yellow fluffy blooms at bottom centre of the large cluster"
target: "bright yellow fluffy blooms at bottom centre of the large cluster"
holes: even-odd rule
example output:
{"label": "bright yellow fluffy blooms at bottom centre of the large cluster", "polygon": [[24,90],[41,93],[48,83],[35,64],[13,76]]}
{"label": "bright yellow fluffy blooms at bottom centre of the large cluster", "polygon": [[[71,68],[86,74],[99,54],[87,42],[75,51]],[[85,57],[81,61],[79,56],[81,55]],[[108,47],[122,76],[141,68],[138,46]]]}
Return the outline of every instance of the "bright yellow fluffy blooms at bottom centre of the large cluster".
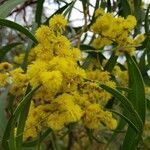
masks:
{"label": "bright yellow fluffy blooms at bottom centre of the large cluster", "polygon": [[74,103],[73,96],[62,94],[57,97],[51,107],[54,112],[47,119],[47,124],[53,130],[60,130],[65,125],[77,122],[82,116],[81,108]]}

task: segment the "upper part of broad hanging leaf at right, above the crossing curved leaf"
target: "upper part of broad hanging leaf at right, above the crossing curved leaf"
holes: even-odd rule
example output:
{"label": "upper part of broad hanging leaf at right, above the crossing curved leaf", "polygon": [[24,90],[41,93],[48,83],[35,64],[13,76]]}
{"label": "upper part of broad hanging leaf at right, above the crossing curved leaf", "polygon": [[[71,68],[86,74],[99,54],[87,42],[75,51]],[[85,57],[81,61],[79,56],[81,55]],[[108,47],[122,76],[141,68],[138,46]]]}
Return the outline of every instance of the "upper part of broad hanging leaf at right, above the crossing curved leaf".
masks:
{"label": "upper part of broad hanging leaf at right, above the crossing curved leaf", "polygon": [[126,58],[129,73],[129,88],[132,90],[132,93],[129,93],[128,97],[144,123],[146,113],[144,81],[133,58],[129,55],[126,55]]}

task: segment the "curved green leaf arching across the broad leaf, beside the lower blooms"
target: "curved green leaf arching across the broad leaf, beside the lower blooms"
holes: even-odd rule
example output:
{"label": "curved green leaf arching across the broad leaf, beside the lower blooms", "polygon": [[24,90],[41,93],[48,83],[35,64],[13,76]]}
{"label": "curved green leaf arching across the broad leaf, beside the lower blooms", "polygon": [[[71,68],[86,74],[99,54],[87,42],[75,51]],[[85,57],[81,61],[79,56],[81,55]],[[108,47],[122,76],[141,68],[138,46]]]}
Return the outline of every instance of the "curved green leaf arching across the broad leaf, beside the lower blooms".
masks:
{"label": "curved green leaf arching across the broad leaf, beside the lower blooms", "polygon": [[143,122],[139,117],[138,113],[136,112],[136,110],[134,109],[132,103],[119,91],[110,88],[106,85],[100,85],[100,87],[106,90],[107,92],[111,93],[117,100],[121,102],[122,107],[124,108],[123,110],[126,112],[124,114],[125,117],[127,117],[128,119],[131,120],[131,122],[134,123],[139,132],[142,132]]}

